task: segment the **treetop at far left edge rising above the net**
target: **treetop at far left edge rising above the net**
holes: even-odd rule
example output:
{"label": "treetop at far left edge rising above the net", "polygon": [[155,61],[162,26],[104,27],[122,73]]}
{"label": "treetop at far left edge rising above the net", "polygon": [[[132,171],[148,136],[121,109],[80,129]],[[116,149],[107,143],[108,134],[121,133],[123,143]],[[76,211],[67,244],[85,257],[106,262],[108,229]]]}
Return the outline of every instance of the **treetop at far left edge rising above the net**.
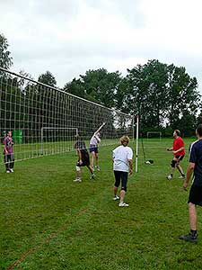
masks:
{"label": "treetop at far left edge rising above the net", "polygon": [[8,41],[0,34],[0,67],[9,69],[13,65],[11,52],[8,50]]}

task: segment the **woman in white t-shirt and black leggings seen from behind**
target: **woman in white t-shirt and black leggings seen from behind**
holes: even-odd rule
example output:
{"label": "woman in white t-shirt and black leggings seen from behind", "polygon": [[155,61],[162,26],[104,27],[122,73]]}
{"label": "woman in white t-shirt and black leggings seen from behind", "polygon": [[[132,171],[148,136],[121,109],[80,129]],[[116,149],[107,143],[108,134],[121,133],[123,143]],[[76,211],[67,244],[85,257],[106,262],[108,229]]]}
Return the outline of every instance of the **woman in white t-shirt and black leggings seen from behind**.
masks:
{"label": "woman in white t-shirt and black leggings seen from behind", "polygon": [[[119,206],[129,206],[124,202],[125,193],[127,192],[127,175],[133,173],[133,150],[127,145],[129,138],[123,136],[120,138],[121,145],[113,150],[113,170],[115,175],[114,184],[114,201],[120,199]],[[118,187],[121,181],[120,197],[117,195]]]}

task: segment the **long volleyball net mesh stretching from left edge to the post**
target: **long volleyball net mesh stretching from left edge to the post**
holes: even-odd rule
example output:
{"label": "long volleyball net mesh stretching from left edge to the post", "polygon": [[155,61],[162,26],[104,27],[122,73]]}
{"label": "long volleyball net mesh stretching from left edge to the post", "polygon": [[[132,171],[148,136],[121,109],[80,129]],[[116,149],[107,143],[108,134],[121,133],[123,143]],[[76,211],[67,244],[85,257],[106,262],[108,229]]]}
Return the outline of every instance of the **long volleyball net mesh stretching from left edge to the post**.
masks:
{"label": "long volleyball net mesh stretching from left edge to the post", "polygon": [[133,137],[131,115],[0,67],[1,141],[12,130],[16,161],[71,151],[77,134],[89,146],[102,122],[101,146],[117,143],[123,134]]}

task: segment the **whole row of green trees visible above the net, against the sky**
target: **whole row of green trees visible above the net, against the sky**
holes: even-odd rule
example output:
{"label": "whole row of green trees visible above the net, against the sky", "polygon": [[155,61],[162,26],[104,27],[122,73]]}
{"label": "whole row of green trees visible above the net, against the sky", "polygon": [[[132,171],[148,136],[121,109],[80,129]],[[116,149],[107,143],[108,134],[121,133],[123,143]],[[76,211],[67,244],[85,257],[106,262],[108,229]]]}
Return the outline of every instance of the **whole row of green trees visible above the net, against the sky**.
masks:
{"label": "whole row of green trees visible above the net, against the sky", "polygon": [[[0,35],[0,66],[9,69],[13,65],[9,44]],[[22,72],[23,76],[31,77]],[[38,81],[57,87],[57,79],[50,71],[38,77]],[[202,122],[201,95],[195,76],[189,76],[185,67],[148,60],[144,65],[127,69],[127,75],[105,68],[87,70],[84,75],[66,82],[65,92],[100,103],[121,112],[139,115],[141,133],[161,130],[171,136],[180,129],[184,136],[194,135]]]}

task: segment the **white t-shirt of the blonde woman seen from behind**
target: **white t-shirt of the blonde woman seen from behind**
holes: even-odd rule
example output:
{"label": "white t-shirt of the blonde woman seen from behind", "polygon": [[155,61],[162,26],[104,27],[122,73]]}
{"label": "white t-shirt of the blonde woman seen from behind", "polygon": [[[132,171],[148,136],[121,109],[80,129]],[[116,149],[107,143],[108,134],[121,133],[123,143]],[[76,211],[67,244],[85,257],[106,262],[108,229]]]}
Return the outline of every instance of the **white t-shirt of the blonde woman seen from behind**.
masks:
{"label": "white t-shirt of the blonde woman seen from behind", "polygon": [[128,172],[129,163],[128,159],[133,158],[133,150],[123,145],[113,150],[114,171]]}

